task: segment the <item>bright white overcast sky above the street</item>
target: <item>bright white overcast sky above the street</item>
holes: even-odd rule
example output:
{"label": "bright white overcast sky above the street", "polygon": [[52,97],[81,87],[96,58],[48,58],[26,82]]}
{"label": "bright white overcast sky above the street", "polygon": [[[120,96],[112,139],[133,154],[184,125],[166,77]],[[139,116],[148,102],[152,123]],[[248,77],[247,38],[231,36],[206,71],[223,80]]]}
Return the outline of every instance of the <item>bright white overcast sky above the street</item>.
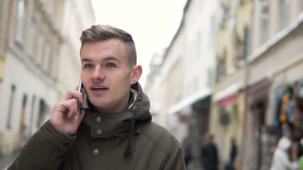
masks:
{"label": "bright white overcast sky above the street", "polygon": [[166,48],[179,27],[186,0],[92,0],[97,24],[109,24],[132,34],[137,64],[145,85],[154,52]]}

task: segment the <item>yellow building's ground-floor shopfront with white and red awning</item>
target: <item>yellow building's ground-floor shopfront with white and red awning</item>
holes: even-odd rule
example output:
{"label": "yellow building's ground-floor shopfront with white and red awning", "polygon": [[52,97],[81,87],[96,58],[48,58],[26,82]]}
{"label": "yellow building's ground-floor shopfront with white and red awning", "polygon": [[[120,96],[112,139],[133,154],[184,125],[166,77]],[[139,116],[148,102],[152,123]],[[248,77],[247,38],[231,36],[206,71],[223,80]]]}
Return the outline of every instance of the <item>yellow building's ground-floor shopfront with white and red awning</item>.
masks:
{"label": "yellow building's ground-floor shopfront with white and red awning", "polygon": [[[242,152],[241,144],[244,133],[245,93],[241,90],[242,83],[234,83],[214,95],[211,132],[224,167],[230,160],[231,140],[235,139],[238,155]],[[240,157],[236,158],[235,166],[239,166]]]}

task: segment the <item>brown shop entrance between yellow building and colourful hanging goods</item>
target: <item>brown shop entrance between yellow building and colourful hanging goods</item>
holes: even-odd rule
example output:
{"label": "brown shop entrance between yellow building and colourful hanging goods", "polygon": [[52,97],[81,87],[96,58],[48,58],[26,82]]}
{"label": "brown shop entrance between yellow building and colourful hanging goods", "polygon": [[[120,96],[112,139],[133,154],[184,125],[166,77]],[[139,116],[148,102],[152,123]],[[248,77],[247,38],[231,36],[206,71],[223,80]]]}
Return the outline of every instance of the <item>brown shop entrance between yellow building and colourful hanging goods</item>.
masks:
{"label": "brown shop entrance between yellow building and colourful hanging goods", "polygon": [[[266,111],[269,102],[271,78],[261,79],[247,87],[247,132],[244,165],[249,170],[261,170],[267,159],[263,153],[271,153],[264,139],[271,138],[271,130],[266,126]],[[263,139],[263,140],[262,140]],[[276,139],[274,139],[275,141]],[[271,158],[269,159],[271,162]]]}

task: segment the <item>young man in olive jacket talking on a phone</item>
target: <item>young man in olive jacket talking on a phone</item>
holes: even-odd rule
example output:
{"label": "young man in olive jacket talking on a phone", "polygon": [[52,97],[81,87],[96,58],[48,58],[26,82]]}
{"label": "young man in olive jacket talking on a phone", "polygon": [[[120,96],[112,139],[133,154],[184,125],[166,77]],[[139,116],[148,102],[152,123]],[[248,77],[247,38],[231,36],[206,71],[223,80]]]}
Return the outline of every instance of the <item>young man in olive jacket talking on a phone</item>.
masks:
{"label": "young man in olive jacket talking on a phone", "polygon": [[151,121],[132,36],[93,25],[80,40],[87,99],[68,91],[8,170],[185,170],[182,145]]}

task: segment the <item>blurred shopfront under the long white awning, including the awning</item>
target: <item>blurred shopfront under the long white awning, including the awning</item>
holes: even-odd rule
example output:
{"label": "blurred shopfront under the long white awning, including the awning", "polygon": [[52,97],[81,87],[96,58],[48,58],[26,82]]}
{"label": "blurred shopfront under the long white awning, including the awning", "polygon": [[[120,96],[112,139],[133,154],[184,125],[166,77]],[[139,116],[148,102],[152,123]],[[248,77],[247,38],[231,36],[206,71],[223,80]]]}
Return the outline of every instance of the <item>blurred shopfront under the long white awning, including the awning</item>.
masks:
{"label": "blurred shopfront under the long white awning, including the awning", "polygon": [[202,139],[208,132],[211,93],[210,89],[199,91],[168,110],[175,122],[175,132],[178,132],[175,133],[176,138],[191,145],[196,164],[199,162],[200,146],[204,142]]}

